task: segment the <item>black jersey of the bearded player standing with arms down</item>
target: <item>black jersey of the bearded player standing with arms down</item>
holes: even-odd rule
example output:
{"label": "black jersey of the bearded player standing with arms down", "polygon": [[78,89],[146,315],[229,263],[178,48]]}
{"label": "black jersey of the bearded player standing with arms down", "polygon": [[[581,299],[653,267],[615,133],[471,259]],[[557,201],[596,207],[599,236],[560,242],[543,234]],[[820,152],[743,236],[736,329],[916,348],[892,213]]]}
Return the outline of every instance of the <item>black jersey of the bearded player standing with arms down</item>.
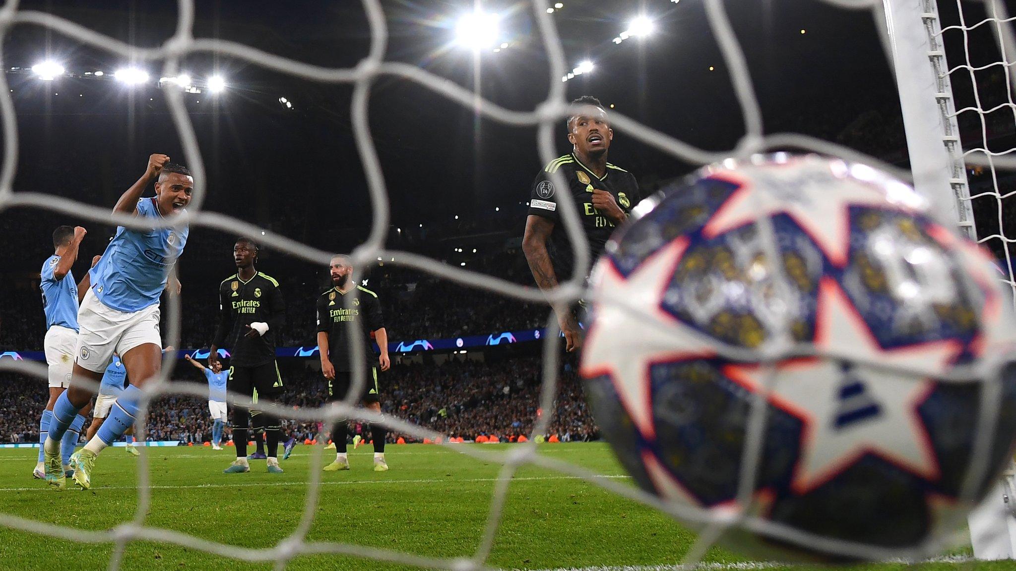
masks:
{"label": "black jersey of the bearded player standing with arms down", "polygon": [[[353,307],[346,309],[344,296],[352,296]],[[384,327],[384,317],[381,313],[381,302],[378,295],[367,288],[357,286],[344,294],[337,288],[331,288],[317,301],[317,330],[328,333],[328,359],[336,371],[350,371],[352,346],[351,324],[360,327],[364,332],[364,355],[368,367],[377,367],[378,358],[371,344],[371,331]]]}

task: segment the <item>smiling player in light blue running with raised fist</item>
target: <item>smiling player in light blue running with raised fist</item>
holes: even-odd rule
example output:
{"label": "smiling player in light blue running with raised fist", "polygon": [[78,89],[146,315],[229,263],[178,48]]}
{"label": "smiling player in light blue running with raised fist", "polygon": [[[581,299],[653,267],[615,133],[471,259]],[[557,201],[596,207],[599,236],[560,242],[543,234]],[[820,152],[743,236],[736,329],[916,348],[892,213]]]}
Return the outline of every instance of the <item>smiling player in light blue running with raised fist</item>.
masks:
{"label": "smiling player in light blue running with raised fist", "polygon": [[[152,182],[155,196],[141,198]],[[165,154],[152,154],[144,175],[123,193],[113,211],[154,219],[184,214],[193,187],[194,179],[187,169],[171,164]],[[141,396],[138,387],[157,376],[162,365],[158,299],[184,251],[187,234],[186,226],[136,230],[119,227],[106,253],[91,268],[91,288],[77,315],[80,330],[74,379],[53,406],[53,421],[44,445],[46,481],[53,487],[62,489],[65,485],[60,438],[92,394],[77,379],[99,381],[114,352],[120,354],[130,384],[117,397],[96,436],[70,457],[78,486],[91,486],[96,457],[134,425]],[[179,292],[179,283],[174,287]]]}

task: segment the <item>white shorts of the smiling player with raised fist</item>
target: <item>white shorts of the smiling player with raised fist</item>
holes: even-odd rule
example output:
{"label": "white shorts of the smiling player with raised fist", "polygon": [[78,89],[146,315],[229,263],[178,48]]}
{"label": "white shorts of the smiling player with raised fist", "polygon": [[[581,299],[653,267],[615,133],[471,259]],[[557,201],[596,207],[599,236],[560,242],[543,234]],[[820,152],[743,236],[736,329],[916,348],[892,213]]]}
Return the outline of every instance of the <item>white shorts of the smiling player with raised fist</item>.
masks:
{"label": "white shorts of the smiling player with raised fist", "polygon": [[[77,312],[77,364],[93,373],[103,373],[113,361],[113,354],[126,354],[144,343],[163,346],[158,331],[158,304],[132,313],[124,313],[103,305],[88,290]],[[97,404],[98,406],[98,404]]]}

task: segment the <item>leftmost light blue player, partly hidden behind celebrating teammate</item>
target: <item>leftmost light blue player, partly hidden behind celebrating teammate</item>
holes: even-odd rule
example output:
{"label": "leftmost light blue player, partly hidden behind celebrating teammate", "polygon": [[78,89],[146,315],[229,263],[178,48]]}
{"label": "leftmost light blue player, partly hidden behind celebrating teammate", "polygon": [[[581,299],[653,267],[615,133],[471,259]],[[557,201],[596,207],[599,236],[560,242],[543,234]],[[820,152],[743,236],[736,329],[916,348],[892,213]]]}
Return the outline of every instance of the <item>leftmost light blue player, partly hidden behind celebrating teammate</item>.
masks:
{"label": "leftmost light blue player, partly hidden behind celebrating teammate", "polygon": [[[74,347],[77,344],[77,306],[83,293],[88,289],[88,274],[81,283],[74,283],[74,273],[70,270],[77,260],[77,249],[81,240],[87,234],[81,227],[62,226],[53,233],[54,254],[43,263],[40,272],[40,289],[43,291],[43,311],[46,313],[46,339],[43,348],[46,352],[46,364],[49,366],[50,399],[39,421],[39,463],[31,474],[42,479],[46,477],[43,469],[43,443],[53,421],[53,406],[60,394],[70,386],[71,368],[74,366]],[[78,292],[81,292],[79,295]],[[74,452],[81,426],[84,425],[84,410],[71,421],[69,430],[64,433],[61,443],[62,466],[67,469],[67,462]]]}

